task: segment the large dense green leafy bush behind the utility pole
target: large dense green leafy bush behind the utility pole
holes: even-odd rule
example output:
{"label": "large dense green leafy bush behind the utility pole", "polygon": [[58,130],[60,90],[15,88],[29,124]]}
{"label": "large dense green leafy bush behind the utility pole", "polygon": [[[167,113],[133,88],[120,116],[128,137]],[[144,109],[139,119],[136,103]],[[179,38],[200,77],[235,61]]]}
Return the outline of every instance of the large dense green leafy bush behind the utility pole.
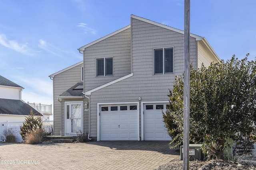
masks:
{"label": "large dense green leafy bush behind the utility pole", "polygon": [[[170,108],[163,113],[168,133],[178,147],[183,141],[183,81],[176,77]],[[190,71],[190,141],[223,159],[225,141],[249,135],[256,122],[256,61],[235,56],[226,63]],[[230,143],[226,143],[230,145]]]}

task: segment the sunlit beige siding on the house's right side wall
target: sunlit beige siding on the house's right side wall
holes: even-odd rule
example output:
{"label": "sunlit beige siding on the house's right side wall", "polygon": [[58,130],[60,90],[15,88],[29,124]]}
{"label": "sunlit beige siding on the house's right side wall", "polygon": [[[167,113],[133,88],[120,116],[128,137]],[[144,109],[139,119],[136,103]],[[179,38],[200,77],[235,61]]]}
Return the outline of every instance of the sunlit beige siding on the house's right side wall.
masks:
{"label": "sunlit beige siding on the house's right side wall", "polygon": [[202,63],[208,67],[212,62],[218,63],[219,61],[216,60],[202,41],[198,41],[198,67],[200,68]]}

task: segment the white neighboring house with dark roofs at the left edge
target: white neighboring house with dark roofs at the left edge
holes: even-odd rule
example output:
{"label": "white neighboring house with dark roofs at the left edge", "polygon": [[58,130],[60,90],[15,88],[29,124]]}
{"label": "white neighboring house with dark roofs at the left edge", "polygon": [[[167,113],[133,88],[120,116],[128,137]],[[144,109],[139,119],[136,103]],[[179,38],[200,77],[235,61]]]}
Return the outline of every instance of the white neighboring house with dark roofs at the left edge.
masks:
{"label": "white neighboring house with dark roofs at the left edge", "polygon": [[30,109],[33,110],[34,115],[42,116],[40,112],[21,100],[22,89],[24,89],[22,86],[0,76],[0,141],[4,140],[5,126],[10,128],[9,123],[23,122],[30,114]]}

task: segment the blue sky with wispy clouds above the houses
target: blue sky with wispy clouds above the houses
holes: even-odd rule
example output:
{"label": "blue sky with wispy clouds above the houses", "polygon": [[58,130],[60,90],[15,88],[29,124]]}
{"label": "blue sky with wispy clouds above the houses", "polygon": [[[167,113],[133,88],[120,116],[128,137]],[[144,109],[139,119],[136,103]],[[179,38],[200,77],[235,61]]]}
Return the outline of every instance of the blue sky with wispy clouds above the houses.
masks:
{"label": "blue sky with wispy clouds above the houses", "polygon": [[[0,75],[22,100],[52,104],[50,74],[82,61],[78,48],[130,24],[130,14],[184,30],[184,0],[0,0]],[[256,56],[255,0],[191,0],[190,32],[220,59]]]}

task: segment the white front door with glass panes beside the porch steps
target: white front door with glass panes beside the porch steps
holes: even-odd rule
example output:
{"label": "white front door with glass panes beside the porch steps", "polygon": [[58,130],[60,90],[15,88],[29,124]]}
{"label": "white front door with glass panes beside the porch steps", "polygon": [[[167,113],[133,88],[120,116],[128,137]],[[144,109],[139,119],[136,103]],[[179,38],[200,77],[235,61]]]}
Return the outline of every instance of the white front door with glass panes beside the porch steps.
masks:
{"label": "white front door with glass panes beside the porch steps", "polygon": [[65,135],[83,132],[83,102],[65,102]]}

